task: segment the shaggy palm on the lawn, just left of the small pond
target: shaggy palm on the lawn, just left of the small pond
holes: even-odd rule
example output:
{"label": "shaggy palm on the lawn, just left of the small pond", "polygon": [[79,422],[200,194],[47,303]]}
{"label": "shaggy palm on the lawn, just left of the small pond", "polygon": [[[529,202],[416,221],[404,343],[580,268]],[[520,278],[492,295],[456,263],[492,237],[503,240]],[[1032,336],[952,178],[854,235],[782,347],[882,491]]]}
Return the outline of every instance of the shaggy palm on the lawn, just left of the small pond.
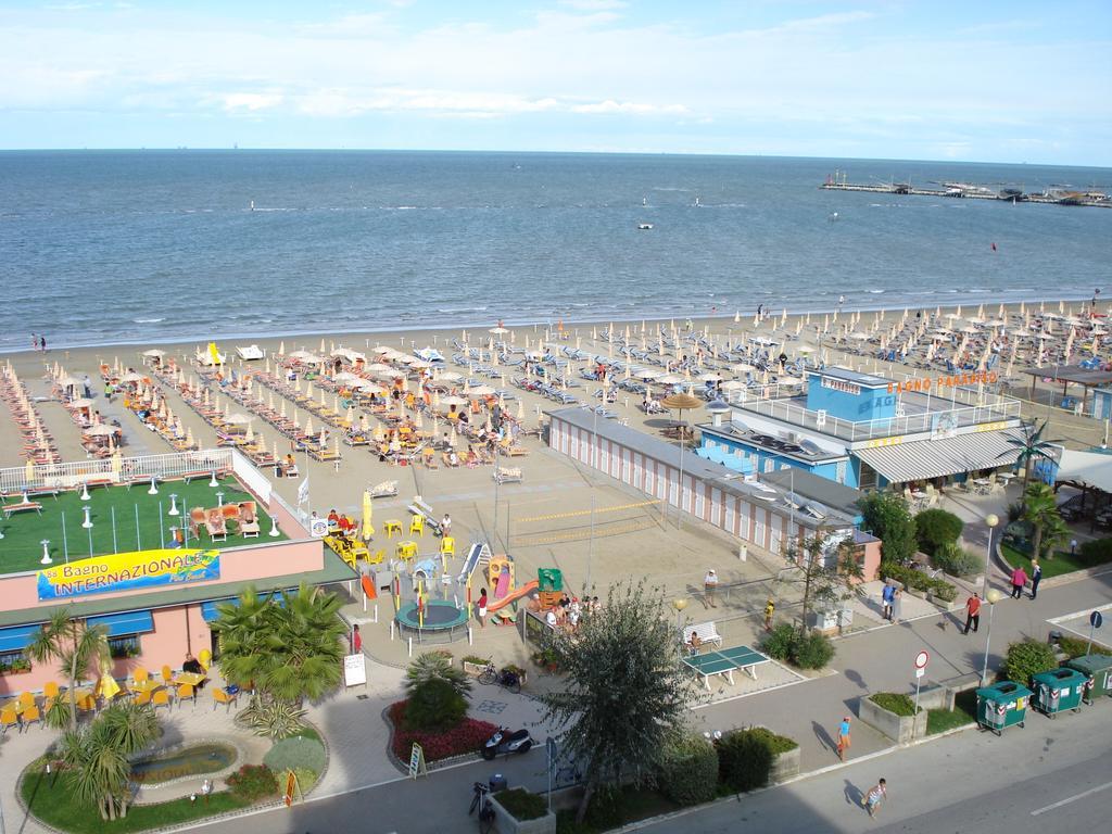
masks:
{"label": "shaggy palm on the lawn, just left of the small pond", "polygon": [[67,731],[59,753],[75,796],[96,804],[101,820],[127,816],[130,757],[160,732],[153,709],[132,703],[112,704],[88,726]]}

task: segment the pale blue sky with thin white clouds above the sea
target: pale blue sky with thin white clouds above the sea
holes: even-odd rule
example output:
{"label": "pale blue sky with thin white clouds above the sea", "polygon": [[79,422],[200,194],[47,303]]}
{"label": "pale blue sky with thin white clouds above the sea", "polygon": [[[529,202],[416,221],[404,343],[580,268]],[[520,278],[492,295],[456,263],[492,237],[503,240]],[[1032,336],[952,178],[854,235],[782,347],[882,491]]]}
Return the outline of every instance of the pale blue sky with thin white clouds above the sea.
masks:
{"label": "pale blue sky with thin white clouds above the sea", "polygon": [[1112,3],[0,0],[0,148],[1112,166]]}

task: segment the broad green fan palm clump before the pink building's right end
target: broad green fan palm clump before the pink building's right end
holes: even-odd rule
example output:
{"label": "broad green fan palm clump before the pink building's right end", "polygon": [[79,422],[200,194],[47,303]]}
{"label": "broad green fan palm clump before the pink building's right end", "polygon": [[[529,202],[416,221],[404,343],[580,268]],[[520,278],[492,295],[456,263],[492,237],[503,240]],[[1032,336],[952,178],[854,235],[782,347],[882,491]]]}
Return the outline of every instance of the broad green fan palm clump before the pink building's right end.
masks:
{"label": "broad green fan palm clump before the pink building's right end", "polygon": [[248,586],[239,605],[217,606],[212,624],[220,637],[220,673],[240,685],[254,684],[265,698],[300,705],[335,689],[347,654],[347,626],[340,599],[301,584],[279,598],[259,598]]}

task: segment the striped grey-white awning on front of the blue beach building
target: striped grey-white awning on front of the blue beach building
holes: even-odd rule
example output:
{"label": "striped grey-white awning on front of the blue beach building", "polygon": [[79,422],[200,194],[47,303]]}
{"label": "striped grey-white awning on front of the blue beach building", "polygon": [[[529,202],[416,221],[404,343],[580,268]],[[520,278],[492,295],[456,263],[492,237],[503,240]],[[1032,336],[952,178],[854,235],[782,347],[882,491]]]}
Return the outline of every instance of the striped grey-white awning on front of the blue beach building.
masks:
{"label": "striped grey-white awning on front of the blue beach building", "polygon": [[915,440],[875,449],[854,449],[852,454],[887,480],[903,484],[907,480],[929,480],[963,471],[1011,466],[1020,456],[1019,449],[1007,443],[1007,438],[1014,436],[1011,431],[974,431],[939,440]]}

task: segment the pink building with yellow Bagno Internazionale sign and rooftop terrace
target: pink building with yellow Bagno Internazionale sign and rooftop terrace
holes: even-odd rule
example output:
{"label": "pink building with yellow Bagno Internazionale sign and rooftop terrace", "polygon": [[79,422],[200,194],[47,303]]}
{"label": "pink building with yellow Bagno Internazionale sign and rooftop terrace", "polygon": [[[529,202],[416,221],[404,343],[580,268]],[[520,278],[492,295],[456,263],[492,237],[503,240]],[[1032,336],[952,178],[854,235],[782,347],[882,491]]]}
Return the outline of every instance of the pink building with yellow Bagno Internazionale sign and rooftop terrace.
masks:
{"label": "pink building with yellow Bagno Internazionale sign and rooftop terrace", "polygon": [[[76,493],[80,492],[80,478],[91,478],[92,474],[77,476],[78,489],[72,488],[73,484],[50,483],[50,477],[42,474],[29,484],[16,485],[13,489],[6,480],[6,476],[10,480],[12,470],[0,471],[0,487],[6,496],[18,495],[22,499],[22,490],[27,489],[28,499],[41,504],[39,513],[20,513],[2,523],[6,538],[0,539],[0,554],[4,550],[3,545],[17,538],[14,534],[34,532],[24,529],[24,525],[38,525],[46,530],[44,538],[57,537],[59,517],[67,512],[72,512],[67,524],[76,530],[67,539],[73,545],[68,548],[66,560],[57,555],[57,543],[53,547],[46,546],[48,550],[56,552],[50,554],[51,564],[40,565],[38,569],[26,569],[26,559],[22,564],[24,569],[11,569],[9,565],[16,568],[21,565],[13,565],[11,560],[7,560],[6,565],[6,560],[0,559],[0,572],[3,572],[0,573],[0,697],[41,691],[49,681],[64,685],[66,676],[52,664],[31,662],[26,654],[39,624],[60,606],[68,607],[75,618],[108,631],[113,656],[112,673],[117,678],[125,678],[139,666],[153,672],[163,665],[178,669],[187,653],[197,656],[208,649],[217,656],[219,647],[209,628],[209,623],[216,617],[216,605],[237,597],[248,585],[259,593],[268,593],[295,588],[301,582],[327,585],[356,577],[319,538],[309,536],[290,508],[270,489],[269,481],[247,458],[231,449],[191,453],[187,463],[193,465],[195,470],[198,454],[211,455],[216,461],[211,468],[224,474],[219,481],[211,481],[218,486],[210,487],[208,476],[191,478],[189,484],[181,479],[181,473],[175,471],[178,461],[173,459],[183,456],[130,459],[160,468],[161,474],[156,475],[159,481],[157,506],[163,516],[159,544],[173,544],[172,534],[166,530],[170,494],[175,494],[175,503],[180,494],[182,506],[179,514],[168,520],[180,524],[182,532],[189,505],[218,507],[225,496],[235,496],[236,502],[250,499],[254,503],[258,534],[250,538],[237,536],[232,533],[236,527],[231,525],[225,540],[219,540],[219,536],[214,540],[201,526],[197,539],[186,536],[185,542],[178,543],[177,549],[126,550],[127,542],[132,540],[128,536],[139,537],[140,513],[157,513],[150,509],[156,498],[147,494],[146,483],[132,487],[130,492],[113,495],[108,490],[128,490],[128,487],[101,486],[88,494],[90,506],[96,507],[98,498],[102,502],[115,500],[116,504],[122,498],[136,504],[136,518],[132,527],[127,528],[113,516],[113,525],[120,529],[111,530],[111,539],[107,538],[106,530],[100,530],[99,542],[116,540],[123,546],[113,553],[95,545],[95,556],[90,558],[86,539],[89,543],[95,539],[91,534],[85,535],[86,530],[79,524],[80,510],[86,505],[78,506],[76,510],[67,508],[77,506],[73,500],[79,498]],[[102,461],[90,461],[90,465],[99,463]],[[19,471],[24,470],[20,468]],[[60,492],[56,495],[56,490]],[[97,518],[98,525],[105,524],[103,515],[101,512]],[[178,518],[182,520],[178,522]],[[146,523],[150,528],[149,517]],[[131,529],[136,533],[132,534]],[[155,538],[157,540],[158,537]],[[73,555],[79,547],[85,549],[81,554],[85,558]],[[191,559],[201,560],[192,556],[197,553],[203,554],[203,567],[182,568],[181,565]],[[91,679],[95,672],[90,669],[88,674]]]}

